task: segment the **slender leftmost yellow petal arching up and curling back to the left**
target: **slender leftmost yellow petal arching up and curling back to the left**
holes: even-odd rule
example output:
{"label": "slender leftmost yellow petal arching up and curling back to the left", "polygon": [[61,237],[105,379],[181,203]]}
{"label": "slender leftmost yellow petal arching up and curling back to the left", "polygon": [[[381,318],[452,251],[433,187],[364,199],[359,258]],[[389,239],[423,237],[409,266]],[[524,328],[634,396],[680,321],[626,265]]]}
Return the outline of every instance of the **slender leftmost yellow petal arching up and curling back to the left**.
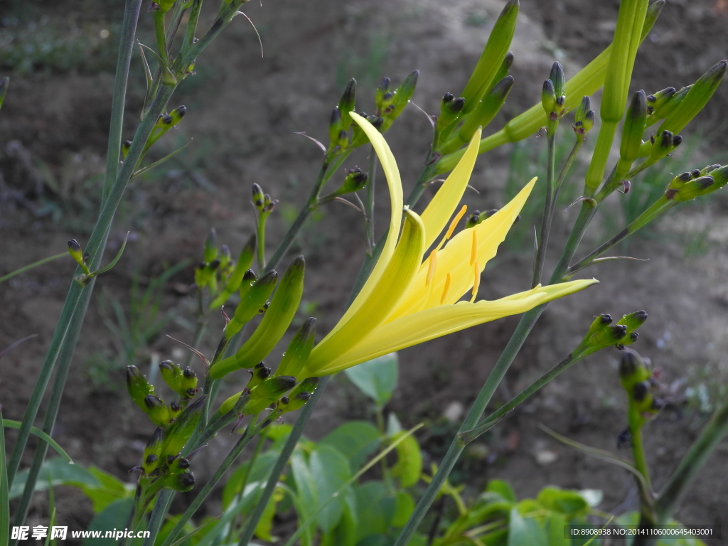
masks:
{"label": "slender leftmost yellow petal arching up and curling back to the left", "polygon": [[[339,323],[333,328],[328,334],[331,336],[335,333],[342,325],[347,323],[355,312],[362,306],[363,302],[371,295],[377,282],[381,279],[381,275],[384,273],[384,269],[387,268],[389,260],[392,259],[392,254],[395,252],[395,246],[397,245],[397,235],[400,232],[400,223],[402,223],[402,208],[404,205],[404,197],[402,193],[402,180],[400,179],[400,171],[397,169],[397,162],[395,156],[392,154],[392,150],[389,149],[387,141],[381,133],[376,130],[371,123],[365,118],[357,114],[356,112],[350,113],[352,119],[362,128],[371,141],[371,144],[376,151],[379,162],[381,163],[381,170],[384,171],[384,177],[387,178],[387,186],[389,186],[389,232],[387,233],[387,240],[384,242],[384,247],[381,249],[379,260],[376,262],[376,266],[372,269],[369,278],[364,283],[364,286],[360,290],[359,294],[352,301],[349,309],[341,317]],[[328,338],[327,336],[327,338]],[[325,341],[325,339],[324,339]]]}

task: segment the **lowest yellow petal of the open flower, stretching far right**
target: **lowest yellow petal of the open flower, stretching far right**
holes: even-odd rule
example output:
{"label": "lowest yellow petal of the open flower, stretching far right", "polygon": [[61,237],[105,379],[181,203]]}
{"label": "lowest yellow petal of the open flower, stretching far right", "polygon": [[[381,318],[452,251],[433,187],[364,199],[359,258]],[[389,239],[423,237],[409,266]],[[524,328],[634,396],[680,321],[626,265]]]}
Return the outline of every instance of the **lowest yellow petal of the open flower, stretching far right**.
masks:
{"label": "lowest yellow petal of the open flower, stretching far right", "polygon": [[496,301],[481,300],[475,304],[460,301],[454,305],[426,309],[376,328],[356,347],[322,368],[306,365],[304,376],[335,373],[372,358],[387,355],[389,352],[446,336],[448,333],[523,313],[547,301],[587,288],[596,282],[598,282],[596,279],[575,280],[558,285],[537,286],[532,290]]}

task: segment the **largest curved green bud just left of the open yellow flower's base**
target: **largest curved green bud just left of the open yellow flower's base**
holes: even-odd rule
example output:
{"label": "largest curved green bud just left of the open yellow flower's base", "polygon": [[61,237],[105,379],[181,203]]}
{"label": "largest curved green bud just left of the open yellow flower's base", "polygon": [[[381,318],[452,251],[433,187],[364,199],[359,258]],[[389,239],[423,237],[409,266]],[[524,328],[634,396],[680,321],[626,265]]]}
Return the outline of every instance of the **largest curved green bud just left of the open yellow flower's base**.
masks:
{"label": "largest curved green bud just left of the open yellow flower's base", "polygon": [[303,256],[298,256],[291,262],[258,328],[236,355],[221,360],[210,368],[210,376],[213,379],[220,379],[236,369],[249,368],[253,363],[263,360],[273,350],[288,329],[298,304],[301,303],[305,269],[306,261]]}

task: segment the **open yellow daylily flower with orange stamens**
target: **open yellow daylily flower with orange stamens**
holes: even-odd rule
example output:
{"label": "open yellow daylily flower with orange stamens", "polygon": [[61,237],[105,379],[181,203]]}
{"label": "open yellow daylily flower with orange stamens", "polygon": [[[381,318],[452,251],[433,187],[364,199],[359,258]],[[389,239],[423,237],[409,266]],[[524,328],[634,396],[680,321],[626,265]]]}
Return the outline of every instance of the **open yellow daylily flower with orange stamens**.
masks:
{"label": "open yellow daylily flower with orange stamens", "polygon": [[[387,178],[389,234],[367,282],[339,323],[314,347],[299,379],[336,373],[448,333],[523,313],[598,282],[539,285],[496,301],[475,301],[480,274],[521,212],[536,178],[490,218],[453,236],[467,208],[462,207],[451,221],[478,157],[480,130],[420,216],[403,206],[400,173],[384,137],[362,116],[351,115],[369,137]],[[425,256],[448,223],[446,233]],[[459,301],[469,291],[470,301]]]}

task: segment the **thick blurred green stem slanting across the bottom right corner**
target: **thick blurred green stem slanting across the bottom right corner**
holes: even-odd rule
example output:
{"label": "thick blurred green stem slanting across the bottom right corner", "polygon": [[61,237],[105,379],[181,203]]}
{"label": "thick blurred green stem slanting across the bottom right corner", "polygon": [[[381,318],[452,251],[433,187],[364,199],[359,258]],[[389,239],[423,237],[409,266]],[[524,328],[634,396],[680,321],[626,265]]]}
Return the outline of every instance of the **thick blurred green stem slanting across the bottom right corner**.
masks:
{"label": "thick blurred green stem slanting across the bottom right corner", "polygon": [[687,454],[683,457],[677,470],[670,476],[668,483],[657,497],[657,515],[660,523],[667,523],[675,512],[678,502],[687,490],[692,478],[713,450],[728,434],[728,400],[716,411],[700,432],[697,440],[693,442]]}

